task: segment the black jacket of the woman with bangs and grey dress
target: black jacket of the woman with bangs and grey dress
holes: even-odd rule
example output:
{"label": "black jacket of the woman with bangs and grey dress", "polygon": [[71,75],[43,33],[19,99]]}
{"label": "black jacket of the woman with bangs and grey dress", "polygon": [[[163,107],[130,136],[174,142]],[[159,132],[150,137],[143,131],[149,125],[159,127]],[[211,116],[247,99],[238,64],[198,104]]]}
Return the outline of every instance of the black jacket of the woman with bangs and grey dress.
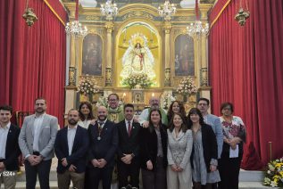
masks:
{"label": "black jacket of the woman with bangs and grey dress", "polygon": [[[217,151],[217,141],[216,136],[212,130],[212,127],[204,124],[201,127],[202,130],[202,143],[203,143],[203,149],[204,149],[204,162],[206,165],[207,172],[211,172],[210,166],[211,166],[211,160],[217,160],[218,159],[218,151]],[[193,157],[194,157],[194,145],[193,145],[193,152],[191,154],[191,165],[193,164]]]}

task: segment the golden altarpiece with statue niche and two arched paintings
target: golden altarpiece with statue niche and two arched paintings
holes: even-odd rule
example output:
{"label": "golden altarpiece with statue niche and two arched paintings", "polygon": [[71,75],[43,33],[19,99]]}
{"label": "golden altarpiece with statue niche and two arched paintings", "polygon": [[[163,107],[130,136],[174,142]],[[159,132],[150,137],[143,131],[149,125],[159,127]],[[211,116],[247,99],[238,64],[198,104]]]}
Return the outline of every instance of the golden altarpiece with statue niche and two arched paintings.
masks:
{"label": "golden altarpiece with statue niche and two arched paintings", "polygon": [[[117,3],[117,2],[116,2]],[[63,1],[74,20],[75,3]],[[161,3],[162,4],[162,3]],[[195,9],[177,6],[171,21],[164,21],[158,14],[159,4],[119,4],[119,13],[112,21],[101,15],[96,8],[79,6],[79,21],[87,26],[86,37],[70,37],[70,63],[68,64],[68,85],[65,87],[65,110],[76,107],[86,100],[79,95],[76,86],[81,78],[96,80],[100,93],[94,94],[94,102],[100,95],[119,94],[124,103],[134,103],[142,109],[154,95],[161,97],[176,94],[176,87],[184,77],[195,80],[198,93],[191,95],[186,109],[196,105],[196,99],[203,96],[210,99],[207,63],[207,36],[188,37],[187,26],[196,20]],[[201,21],[207,21],[207,12],[212,4],[201,1]],[[133,52],[141,47],[145,56]],[[135,54],[135,53],[134,53]],[[143,63],[143,65],[142,65]],[[122,80],[130,71],[146,72],[154,84],[145,89],[123,86]]]}

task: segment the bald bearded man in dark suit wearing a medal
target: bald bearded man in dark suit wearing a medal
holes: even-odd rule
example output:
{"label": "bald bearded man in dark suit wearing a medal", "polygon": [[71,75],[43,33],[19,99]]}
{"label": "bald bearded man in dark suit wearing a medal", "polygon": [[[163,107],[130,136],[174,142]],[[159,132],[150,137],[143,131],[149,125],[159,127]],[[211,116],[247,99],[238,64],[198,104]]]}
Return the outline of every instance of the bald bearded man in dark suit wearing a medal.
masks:
{"label": "bald bearded man in dark suit wearing a medal", "polygon": [[118,131],[112,121],[107,120],[107,109],[98,107],[96,124],[88,127],[89,150],[87,165],[87,188],[98,189],[102,180],[103,188],[110,189],[114,156],[118,147]]}

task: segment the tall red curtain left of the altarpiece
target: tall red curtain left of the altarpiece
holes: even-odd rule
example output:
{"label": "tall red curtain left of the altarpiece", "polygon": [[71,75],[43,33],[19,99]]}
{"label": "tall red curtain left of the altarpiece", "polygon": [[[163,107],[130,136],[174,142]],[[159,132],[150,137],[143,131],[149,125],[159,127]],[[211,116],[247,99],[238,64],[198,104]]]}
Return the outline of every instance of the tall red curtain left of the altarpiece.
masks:
{"label": "tall red curtain left of the altarpiece", "polygon": [[[62,21],[42,0],[29,0],[38,21],[22,19],[25,1],[0,1],[0,104],[14,111],[33,111],[34,100],[45,97],[47,112],[62,126],[64,112],[66,39]],[[57,1],[59,15],[66,15]],[[59,8],[58,8],[59,7]]]}

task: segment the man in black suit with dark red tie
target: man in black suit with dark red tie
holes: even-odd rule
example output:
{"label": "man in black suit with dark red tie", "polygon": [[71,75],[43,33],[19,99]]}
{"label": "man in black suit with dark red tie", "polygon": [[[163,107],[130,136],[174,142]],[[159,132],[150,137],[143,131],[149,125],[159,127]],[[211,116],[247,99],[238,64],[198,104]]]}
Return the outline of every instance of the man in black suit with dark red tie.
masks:
{"label": "man in black suit with dark red tie", "polygon": [[[124,106],[125,119],[117,124],[118,145],[118,181],[119,188],[138,188],[139,179],[139,140],[140,125],[134,122],[134,105]],[[128,177],[130,182],[128,182]]]}

